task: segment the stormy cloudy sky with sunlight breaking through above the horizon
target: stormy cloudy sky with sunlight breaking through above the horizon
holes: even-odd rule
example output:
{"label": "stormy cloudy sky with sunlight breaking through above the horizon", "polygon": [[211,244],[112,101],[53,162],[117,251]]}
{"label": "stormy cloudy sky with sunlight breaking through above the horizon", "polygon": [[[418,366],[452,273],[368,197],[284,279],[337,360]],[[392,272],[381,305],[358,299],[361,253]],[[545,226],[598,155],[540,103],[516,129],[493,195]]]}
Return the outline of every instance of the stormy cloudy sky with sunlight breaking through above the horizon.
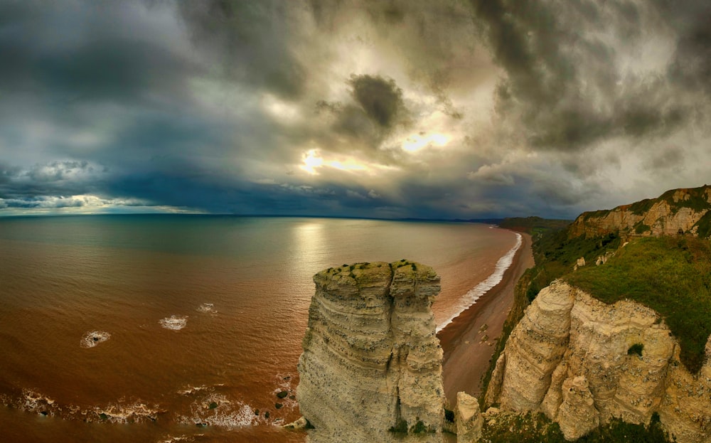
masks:
{"label": "stormy cloudy sky with sunlight breaking through above the horizon", "polygon": [[574,218],[711,182],[706,0],[0,0],[0,215]]}

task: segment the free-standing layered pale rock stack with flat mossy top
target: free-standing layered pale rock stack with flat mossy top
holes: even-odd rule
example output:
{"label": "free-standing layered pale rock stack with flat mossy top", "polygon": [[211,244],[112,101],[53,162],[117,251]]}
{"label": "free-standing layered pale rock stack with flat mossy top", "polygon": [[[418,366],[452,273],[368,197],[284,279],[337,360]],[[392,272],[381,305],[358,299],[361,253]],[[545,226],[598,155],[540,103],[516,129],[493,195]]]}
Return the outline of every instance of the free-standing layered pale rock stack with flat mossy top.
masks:
{"label": "free-standing layered pale rock stack with flat mossy top", "polygon": [[412,262],[359,263],[314,276],[297,397],[315,433],[385,441],[387,431],[439,432],[442,348],[432,310],[439,276]]}

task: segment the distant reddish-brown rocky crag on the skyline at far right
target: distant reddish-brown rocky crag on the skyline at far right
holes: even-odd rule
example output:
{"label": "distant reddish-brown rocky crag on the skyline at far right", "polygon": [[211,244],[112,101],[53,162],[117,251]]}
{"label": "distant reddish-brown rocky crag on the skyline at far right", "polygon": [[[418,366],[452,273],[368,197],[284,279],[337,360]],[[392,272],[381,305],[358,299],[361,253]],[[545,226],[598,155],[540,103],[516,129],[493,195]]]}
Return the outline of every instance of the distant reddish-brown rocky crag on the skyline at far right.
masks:
{"label": "distant reddish-brown rocky crag on the skyline at far right", "polygon": [[711,186],[673,189],[658,198],[582,213],[570,225],[568,237],[597,237],[609,233],[658,236],[690,233],[708,237]]}

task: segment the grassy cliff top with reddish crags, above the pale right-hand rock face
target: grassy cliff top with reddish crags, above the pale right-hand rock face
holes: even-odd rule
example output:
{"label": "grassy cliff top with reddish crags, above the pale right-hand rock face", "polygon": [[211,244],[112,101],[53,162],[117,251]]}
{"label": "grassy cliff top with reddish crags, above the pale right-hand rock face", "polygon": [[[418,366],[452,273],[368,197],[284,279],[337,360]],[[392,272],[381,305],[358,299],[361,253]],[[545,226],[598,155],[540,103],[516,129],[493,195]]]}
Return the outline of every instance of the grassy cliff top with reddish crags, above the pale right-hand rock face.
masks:
{"label": "grassy cliff top with reddish crags, above the pale right-hand rock face", "polygon": [[710,209],[711,186],[704,185],[582,213],[567,230],[533,242],[526,298],[563,278],[606,303],[638,301],[666,321],[694,373],[711,334]]}

